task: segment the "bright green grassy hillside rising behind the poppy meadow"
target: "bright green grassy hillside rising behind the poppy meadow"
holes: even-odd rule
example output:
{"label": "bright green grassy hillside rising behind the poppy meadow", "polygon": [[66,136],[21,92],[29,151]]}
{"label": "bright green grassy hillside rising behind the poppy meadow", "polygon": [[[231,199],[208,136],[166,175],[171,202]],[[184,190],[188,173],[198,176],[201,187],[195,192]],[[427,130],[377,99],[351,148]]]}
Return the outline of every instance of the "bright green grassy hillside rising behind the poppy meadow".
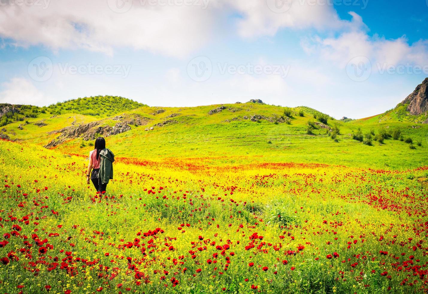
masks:
{"label": "bright green grassy hillside rising behind the poppy meadow", "polygon": [[[88,100],[91,102],[87,105],[95,105],[98,101]],[[428,125],[399,119],[396,111],[343,122],[307,107],[288,109],[291,111],[288,118],[283,107],[258,103],[187,108],[142,106],[100,120],[98,116],[79,114],[92,112],[92,109],[82,109],[82,100],[67,103],[70,109],[62,111],[70,111],[68,114],[56,117],[40,114],[37,118],[28,118],[28,124],[22,129],[18,129],[22,122],[9,124],[3,134],[11,140],[44,146],[57,138],[60,134],[56,131],[63,127],[94,121],[100,122],[101,126],[113,127],[117,123],[116,115],[137,114],[145,119],[142,125],[130,125],[131,130],[107,138],[108,146],[119,156],[146,159],[226,156],[226,162],[233,162],[234,156],[244,156],[248,162],[319,162],[386,169],[428,164]],[[78,108],[77,114],[71,113],[75,111],[73,107]],[[321,116],[327,119],[327,127],[332,131],[319,124]],[[41,121],[46,125],[38,126]],[[151,127],[152,130],[146,131]],[[372,134],[371,146],[353,139],[359,129],[363,137]],[[393,130],[400,132],[397,140],[392,138]],[[386,132],[391,137],[377,140],[379,132]],[[408,138],[412,139],[412,144],[405,142]],[[367,143],[366,138],[363,141]],[[64,153],[85,155],[92,145],[93,140],[70,138],[55,148]],[[240,160],[245,161],[242,157]]]}

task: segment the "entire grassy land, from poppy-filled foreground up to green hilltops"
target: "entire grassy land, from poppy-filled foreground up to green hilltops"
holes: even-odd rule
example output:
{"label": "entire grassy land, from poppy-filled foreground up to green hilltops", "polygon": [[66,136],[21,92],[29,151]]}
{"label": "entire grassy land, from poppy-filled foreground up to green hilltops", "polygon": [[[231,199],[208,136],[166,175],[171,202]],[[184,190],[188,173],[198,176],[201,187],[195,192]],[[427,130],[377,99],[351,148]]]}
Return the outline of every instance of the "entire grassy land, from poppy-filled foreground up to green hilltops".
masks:
{"label": "entire grassy land, from poppy-filled foreground up to green hilltops", "polygon": [[[258,103],[103,115],[88,100],[2,127],[0,292],[427,292],[428,125],[405,105],[344,122]],[[94,140],[60,130],[127,122],[106,137],[114,178],[98,194]]]}

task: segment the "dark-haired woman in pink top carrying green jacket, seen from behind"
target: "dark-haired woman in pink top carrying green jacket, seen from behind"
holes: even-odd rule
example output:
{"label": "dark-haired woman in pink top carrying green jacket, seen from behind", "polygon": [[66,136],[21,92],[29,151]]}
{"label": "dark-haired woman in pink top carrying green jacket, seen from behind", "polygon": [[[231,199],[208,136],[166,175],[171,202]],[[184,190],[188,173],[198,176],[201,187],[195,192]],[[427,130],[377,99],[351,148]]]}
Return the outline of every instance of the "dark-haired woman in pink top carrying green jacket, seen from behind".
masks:
{"label": "dark-haired woman in pink top carrying green jacket, seen from behind", "polygon": [[[95,140],[95,147],[89,153],[88,172],[86,173],[86,183],[89,179],[97,190],[97,193],[105,193],[107,184],[113,179],[114,154],[106,148],[106,141],[102,137]],[[92,170],[92,174],[91,174]]]}

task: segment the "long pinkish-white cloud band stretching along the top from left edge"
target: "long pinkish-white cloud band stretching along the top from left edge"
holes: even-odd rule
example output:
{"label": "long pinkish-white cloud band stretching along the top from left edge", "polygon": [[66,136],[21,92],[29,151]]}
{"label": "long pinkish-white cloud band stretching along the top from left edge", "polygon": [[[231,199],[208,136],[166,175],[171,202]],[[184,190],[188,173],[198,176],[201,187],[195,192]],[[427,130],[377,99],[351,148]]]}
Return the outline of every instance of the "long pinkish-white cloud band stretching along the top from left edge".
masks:
{"label": "long pinkish-white cloud band stretching along the top from left edge", "polygon": [[[83,48],[112,55],[115,48],[127,47],[183,57],[230,30],[230,15],[241,16],[235,18],[236,29],[245,38],[274,36],[283,28],[326,31],[350,25],[327,0],[316,5],[313,0],[286,0],[291,6],[282,13],[269,4],[277,0],[44,1],[0,6],[0,36],[17,46],[45,45],[53,51]],[[117,13],[117,3],[124,4],[126,12]],[[358,17],[354,26],[356,22]]]}

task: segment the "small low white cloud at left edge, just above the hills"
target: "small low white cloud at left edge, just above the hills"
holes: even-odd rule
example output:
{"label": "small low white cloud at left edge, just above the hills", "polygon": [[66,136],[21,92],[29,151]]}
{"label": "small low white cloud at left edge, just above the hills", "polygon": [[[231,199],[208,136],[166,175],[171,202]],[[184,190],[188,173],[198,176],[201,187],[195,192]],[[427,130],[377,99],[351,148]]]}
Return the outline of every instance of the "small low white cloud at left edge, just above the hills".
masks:
{"label": "small low white cloud at left edge, just above the hills", "polygon": [[0,102],[10,104],[46,105],[50,99],[25,78],[12,78],[1,84]]}

